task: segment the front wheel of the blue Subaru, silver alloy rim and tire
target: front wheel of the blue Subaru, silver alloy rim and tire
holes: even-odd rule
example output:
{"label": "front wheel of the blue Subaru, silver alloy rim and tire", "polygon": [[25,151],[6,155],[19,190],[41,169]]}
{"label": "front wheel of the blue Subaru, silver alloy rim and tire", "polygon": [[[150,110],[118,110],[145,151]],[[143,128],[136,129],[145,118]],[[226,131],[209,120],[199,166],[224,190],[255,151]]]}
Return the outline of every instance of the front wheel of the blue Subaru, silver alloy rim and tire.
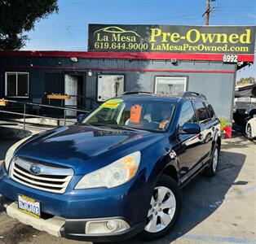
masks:
{"label": "front wheel of the blue Subaru, silver alloy rim and tire", "polygon": [[174,227],[182,206],[179,185],[169,176],[161,176],[153,190],[147,223],[139,237],[151,241],[164,237]]}

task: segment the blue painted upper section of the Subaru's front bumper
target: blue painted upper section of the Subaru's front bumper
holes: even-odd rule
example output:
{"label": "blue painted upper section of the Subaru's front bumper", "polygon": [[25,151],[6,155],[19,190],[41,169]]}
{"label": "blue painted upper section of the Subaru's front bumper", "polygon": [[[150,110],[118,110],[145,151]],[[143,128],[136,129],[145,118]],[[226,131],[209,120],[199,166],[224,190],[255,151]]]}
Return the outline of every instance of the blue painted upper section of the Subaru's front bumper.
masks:
{"label": "blue painted upper section of the Subaru's front bumper", "polygon": [[64,194],[36,190],[11,180],[0,166],[0,194],[18,202],[18,195],[33,198],[42,203],[42,213],[65,219],[97,219],[123,216],[138,224],[147,218],[154,183],[145,183],[142,177],[113,189],[74,190],[81,177],[73,176]]}

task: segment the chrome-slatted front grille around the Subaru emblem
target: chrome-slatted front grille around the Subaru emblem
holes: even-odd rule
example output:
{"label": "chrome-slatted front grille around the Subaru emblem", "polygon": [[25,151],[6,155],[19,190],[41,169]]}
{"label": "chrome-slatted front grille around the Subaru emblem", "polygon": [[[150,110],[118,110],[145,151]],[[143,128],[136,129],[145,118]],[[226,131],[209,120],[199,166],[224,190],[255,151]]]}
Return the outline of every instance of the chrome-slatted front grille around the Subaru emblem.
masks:
{"label": "chrome-slatted front grille around the Subaru emblem", "polygon": [[[39,167],[41,172],[38,174],[31,172],[32,166]],[[73,169],[16,157],[11,161],[10,176],[12,180],[22,185],[64,194],[73,177]]]}

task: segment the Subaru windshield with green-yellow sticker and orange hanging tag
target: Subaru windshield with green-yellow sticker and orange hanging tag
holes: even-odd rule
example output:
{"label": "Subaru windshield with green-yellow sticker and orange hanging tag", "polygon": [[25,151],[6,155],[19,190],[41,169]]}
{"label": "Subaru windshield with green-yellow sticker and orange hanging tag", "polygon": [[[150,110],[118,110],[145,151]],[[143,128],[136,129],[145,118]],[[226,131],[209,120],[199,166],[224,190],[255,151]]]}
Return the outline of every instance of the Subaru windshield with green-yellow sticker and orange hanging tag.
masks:
{"label": "Subaru windshield with green-yellow sticker and orange hanging tag", "polygon": [[171,122],[174,107],[174,102],[163,100],[111,99],[88,115],[82,124],[164,132]]}

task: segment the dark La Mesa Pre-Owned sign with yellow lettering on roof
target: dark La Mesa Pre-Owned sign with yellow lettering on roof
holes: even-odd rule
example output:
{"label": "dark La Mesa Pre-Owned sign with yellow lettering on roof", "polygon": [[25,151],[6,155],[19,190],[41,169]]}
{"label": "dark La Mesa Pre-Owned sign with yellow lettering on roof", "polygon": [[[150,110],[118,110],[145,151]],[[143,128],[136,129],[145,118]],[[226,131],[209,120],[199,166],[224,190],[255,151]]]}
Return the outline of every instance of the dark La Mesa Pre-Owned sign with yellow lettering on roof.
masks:
{"label": "dark La Mesa Pre-Owned sign with yellow lettering on roof", "polygon": [[255,26],[89,24],[89,51],[254,54]]}

